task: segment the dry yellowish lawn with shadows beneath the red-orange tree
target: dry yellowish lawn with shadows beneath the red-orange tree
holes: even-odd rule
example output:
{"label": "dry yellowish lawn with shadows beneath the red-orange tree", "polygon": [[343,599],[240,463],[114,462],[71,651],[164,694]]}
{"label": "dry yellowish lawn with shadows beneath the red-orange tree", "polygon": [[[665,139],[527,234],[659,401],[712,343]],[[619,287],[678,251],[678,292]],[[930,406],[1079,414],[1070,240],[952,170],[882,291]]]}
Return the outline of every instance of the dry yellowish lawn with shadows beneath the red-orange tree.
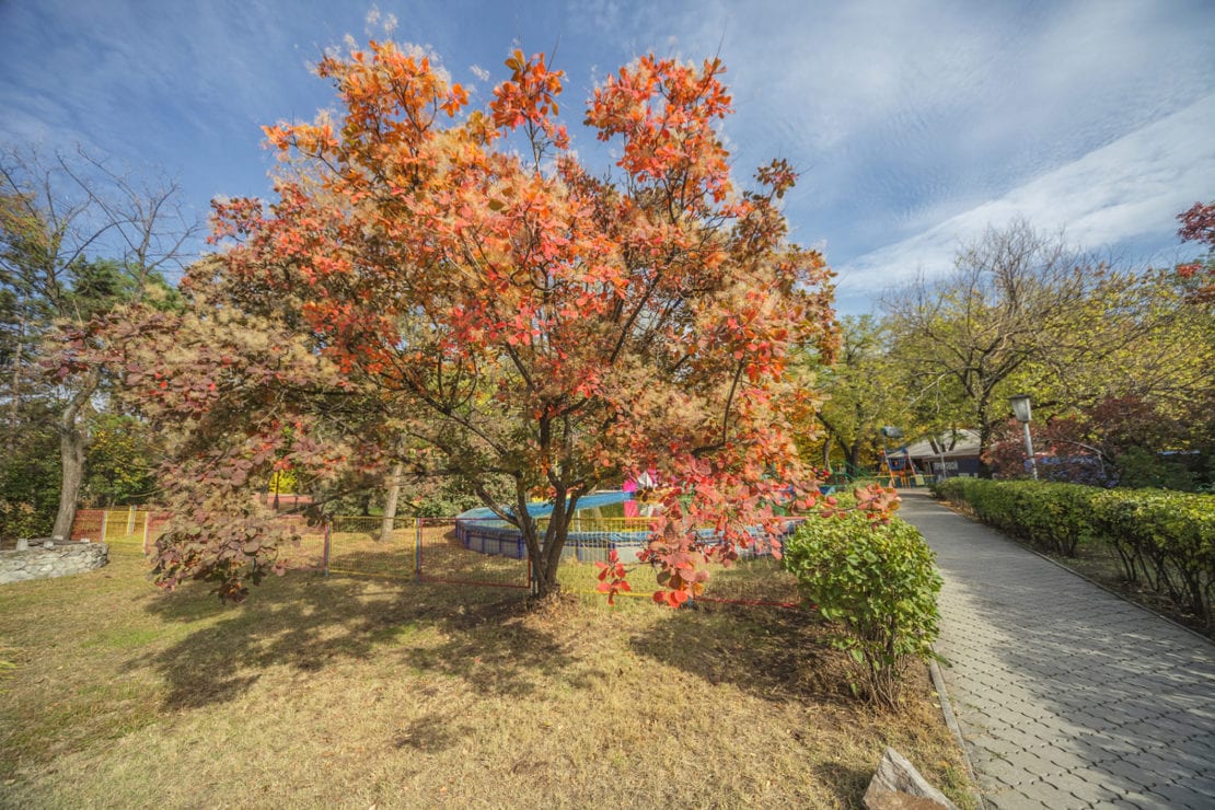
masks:
{"label": "dry yellowish lawn with shadows beneath the red-orange tree", "polygon": [[0,588],[0,804],[854,806],[888,744],[967,803],[927,676],[850,701],[813,613],[309,572],[225,606],[111,556]]}

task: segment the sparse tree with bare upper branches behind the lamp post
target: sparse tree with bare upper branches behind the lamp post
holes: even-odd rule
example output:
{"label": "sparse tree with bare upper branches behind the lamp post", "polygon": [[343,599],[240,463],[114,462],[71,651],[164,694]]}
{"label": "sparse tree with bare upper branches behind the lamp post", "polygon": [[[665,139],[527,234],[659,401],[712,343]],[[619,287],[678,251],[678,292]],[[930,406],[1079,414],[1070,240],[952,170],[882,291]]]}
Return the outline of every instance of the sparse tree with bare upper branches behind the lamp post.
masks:
{"label": "sparse tree with bare upper branches behind the lamp post", "polygon": [[891,355],[923,402],[944,406],[937,419],[976,430],[985,452],[1016,389],[1106,361],[1112,347],[1090,328],[1106,296],[1131,283],[1024,221],[989,228],[959,253],[953,274],[883,298]]}

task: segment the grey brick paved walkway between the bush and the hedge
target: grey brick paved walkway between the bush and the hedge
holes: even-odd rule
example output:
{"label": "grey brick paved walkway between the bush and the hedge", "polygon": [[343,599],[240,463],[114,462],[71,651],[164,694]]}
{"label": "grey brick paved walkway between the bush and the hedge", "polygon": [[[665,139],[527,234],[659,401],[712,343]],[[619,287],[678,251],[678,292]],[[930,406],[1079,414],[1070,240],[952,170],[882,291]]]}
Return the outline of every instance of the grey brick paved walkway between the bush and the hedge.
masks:
{"label": "grey brick paved walkway between the bush and the hedge", "polygon": [[938,652],[994,808],[1215,808],[1215,645],[904,492]]}

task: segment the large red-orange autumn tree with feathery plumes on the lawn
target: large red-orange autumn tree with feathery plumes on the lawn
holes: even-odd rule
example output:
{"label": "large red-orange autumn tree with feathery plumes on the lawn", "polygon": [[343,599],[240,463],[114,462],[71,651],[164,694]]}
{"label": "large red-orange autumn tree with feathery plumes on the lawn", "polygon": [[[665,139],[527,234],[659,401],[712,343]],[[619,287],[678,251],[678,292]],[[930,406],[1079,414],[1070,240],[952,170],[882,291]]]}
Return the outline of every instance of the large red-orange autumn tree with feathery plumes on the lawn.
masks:
{"label": "large red-orange autumn tree with feathery plumes on the lawn", "polygon": [[[373,41],[318,64],[334,117],[266,129],[276,199],[216,206],[226,250],[187,276],[194,325],[146,329],[177,351],[125,366],[153,412],[188,419],[177,481],[198,488],[177,498],[207,505],[162,539],[162,582],[239,597],[279,565],[281,529],[243,491],[275,465],[456,476],[520,529],[541,595],[578,499],[655,468],[673,485],[649,546],[671,604],[810,489],[789,358],[830,342],[830,271],[787,239],[784,162],[735,185],[720,62],[646,56],[594,91],[584,123],[615,145],[615,176],[571,149],[563,74],[518,51],[507,68],[468,112],[428,56]],[[180,338],[225,319],[273,336],[260,356],[256,330],[244,347]]]}

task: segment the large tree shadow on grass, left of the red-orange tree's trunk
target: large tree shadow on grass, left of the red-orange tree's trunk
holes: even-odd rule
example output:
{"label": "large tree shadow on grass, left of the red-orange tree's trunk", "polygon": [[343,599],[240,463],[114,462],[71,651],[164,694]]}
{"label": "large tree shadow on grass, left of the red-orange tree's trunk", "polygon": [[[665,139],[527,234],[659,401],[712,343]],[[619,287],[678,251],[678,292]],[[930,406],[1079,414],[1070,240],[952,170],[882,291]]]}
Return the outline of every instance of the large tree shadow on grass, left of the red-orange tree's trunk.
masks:
{"label": "large tree shadow on grass, left of the red-orange tree's trunk", "polygon": [[[570,664],[552,635],[522,621],[519,590],[293,572],[255,588],[238,606],[221,605],[205,585],[191,583],[151,600],[147,610],[170,624],[198,625],[129,665],[163,674],[168,709],[234,699],[271,667],[313,674],[385,650],[413,672],[518,696],[533,691],[542,673]],[[425,641],[409,644],[411,634]]]}

